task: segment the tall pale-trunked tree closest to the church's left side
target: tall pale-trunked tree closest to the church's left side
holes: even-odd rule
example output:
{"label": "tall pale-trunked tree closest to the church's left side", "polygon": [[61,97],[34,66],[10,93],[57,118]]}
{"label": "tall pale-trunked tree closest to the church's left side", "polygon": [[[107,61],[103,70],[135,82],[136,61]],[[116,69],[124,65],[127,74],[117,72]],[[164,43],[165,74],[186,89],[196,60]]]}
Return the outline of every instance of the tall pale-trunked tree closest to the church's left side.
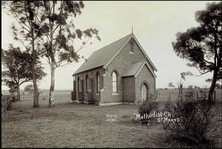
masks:
{"label": "tall pale-trunked tree closest to the church's left side", "polygon": [[[42,56],[48,59],[51,68],[49,107],[52,107],[54,106],[56,68],[73,61],[78,62],[80,56],[77,53],[87,46],[93,36],[98,40],[100,37],[96,29],[90,28],[82,31],[75,27],[73,19],[81,14],[81,10],[84,8],[82,1],[44,1],[43,3],[42,11],[44,13],[39,18],[40,26],[46,32],[42,41],[44,42],[42,49],[45,51]],[[74,47],[76,39],[82,43],[78,49]]]}

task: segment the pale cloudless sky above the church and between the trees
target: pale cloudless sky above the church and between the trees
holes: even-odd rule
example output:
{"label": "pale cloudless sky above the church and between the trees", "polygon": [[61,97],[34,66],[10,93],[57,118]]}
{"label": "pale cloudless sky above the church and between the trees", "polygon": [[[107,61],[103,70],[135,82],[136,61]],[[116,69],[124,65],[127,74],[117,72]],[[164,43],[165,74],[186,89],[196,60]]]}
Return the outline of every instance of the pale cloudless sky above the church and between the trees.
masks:
{"label": "pale cloudless sky above the church and between the trees", "polygon": [[[93,39],[93,44],[82,49],[79,54],[88,58],[94,51],[130,34],[132,32],[148,54],[157,68],[156,87],[166,88],[172,82],[177,86],[180,73],[191,71],[199,74],[195,68],[186,66],[189,62],[176,56],[172,42],[176,40],[177,32],[185,32],[188,28],[199,24],[195,21],[195,12],[203,10],[206,3],[212,1],[85,1],[82,14],[74,18],[75,27],[82,30],[96,28],[99,31],[101,41]],[[15,46],[22,45],[13,40],[10,30],[15,21],[2,10],[2,48],[7,49],[9,43]],[[76,43],[78,45],[78,43]],[[50,87],[50,68],[43,61],[44,71],[47,76],[38,82],[40,89]],[[72,74],[83,64],[81,59],[78,63],[56,69],[55,89],[72,90]],[[212,73],[201,77],[188,77],[184,86],[209,87],[205,82],[212,78]],[[27,84],[21,86],[23,89]],[[2,89],[8,89],[2,86]]]}

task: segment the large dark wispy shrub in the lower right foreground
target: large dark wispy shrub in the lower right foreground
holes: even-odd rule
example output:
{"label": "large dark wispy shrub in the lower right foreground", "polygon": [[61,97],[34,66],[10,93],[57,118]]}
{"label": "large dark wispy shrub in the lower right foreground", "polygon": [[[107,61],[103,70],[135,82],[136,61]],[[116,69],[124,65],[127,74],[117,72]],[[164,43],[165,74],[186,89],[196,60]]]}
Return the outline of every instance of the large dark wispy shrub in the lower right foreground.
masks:
{"label": "large dark wispy shrub in the lower right foreground", "polygon": [[173,107],[174,116],[178,117],[180,122],[164,124],[164,129],[173,140],[191,146],[211,147],[206,134],[213,117],[212,103],[207,98],[192,100],[192,96],[190,97],[190,100],[183,100],[181,97]]}

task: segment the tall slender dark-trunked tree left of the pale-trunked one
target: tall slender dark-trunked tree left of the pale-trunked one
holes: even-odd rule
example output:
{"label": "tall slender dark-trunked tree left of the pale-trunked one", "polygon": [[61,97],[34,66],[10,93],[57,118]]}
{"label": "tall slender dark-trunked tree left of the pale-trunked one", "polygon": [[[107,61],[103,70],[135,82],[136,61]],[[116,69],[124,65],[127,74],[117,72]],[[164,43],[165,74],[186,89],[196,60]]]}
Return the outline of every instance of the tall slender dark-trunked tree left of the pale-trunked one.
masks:
{"label": "tall slender dark-trunked tree left of the pale-trunked one", "polygon": [[[36,78],[37,59],[40,53],[40,40],[45,29],[39,24],[38,17],[41,17],[42,1],[11,1],[2,2],[3,9],[12,16],[18,25],[12,25],[14,39],[19,40],[27,51],[32,53],[32,80],[34,86],[33,107],[39,107],[39,93]],[[20,27],[18,27],[20,26]]]}

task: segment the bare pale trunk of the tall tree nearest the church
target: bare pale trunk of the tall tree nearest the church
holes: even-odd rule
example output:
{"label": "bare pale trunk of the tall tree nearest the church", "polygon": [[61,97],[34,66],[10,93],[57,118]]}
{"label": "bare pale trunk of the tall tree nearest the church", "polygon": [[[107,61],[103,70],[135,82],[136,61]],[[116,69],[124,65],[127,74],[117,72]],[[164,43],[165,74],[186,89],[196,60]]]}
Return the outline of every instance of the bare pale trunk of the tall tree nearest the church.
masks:
{"label": "bare pale trunk of the tall tree nearest the church", "polygon": [[51,65],[51,84],[50,84],[50,90],[49,90],[49,107],[54,106],[54,88],[55,88],[55,67],[54,63]]}

